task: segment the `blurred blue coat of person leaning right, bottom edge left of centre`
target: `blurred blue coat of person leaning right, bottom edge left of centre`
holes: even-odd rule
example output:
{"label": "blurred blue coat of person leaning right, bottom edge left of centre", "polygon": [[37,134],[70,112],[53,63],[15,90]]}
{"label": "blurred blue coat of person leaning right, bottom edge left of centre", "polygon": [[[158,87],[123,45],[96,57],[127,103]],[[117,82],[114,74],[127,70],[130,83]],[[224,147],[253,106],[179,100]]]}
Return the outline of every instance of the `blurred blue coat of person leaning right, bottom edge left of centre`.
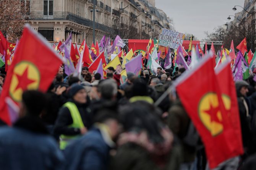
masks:
{"label": "blurred blue coat of person leaning right, bottom edge left of centre", "polygon": [[92,128],[75,140],[64,151],[66,170],[107,170],[110,146],[105,143],[100,130]]}

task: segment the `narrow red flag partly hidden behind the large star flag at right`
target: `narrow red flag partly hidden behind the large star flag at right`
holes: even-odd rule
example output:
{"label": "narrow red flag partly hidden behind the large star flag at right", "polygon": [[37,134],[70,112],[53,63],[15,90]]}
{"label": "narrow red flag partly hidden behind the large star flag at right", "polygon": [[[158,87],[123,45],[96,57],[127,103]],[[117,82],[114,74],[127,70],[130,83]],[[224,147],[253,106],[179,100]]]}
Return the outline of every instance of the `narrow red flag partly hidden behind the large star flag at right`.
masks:
{"label": "narrow red flag partly hidden behind the large star flag at right", "polygon": [[222,101],[228,115],[228,120],[233,126],[233,130],[236,136],[236,138],[232,140],[232,145],[235,148],[233,156],[242,155],[244,151],[241,138],[242,135],[237,102],[237,92],[235,89],[235,83],[233,81],[230,62],[226,60],[223,64],[217,67],[217,69],[215,70],[215,74],[217,76],[219,84],[221,84],[220,91],[222,93]]}

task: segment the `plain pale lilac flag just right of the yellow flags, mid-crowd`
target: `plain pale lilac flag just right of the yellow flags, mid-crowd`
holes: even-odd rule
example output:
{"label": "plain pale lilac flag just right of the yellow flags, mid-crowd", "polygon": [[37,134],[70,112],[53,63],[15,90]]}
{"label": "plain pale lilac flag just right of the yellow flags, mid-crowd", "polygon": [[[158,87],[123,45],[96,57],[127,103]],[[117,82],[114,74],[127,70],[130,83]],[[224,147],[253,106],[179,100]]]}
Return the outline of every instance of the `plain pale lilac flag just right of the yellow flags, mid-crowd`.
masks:
{"label": "plain pale lilac flag just right of the yellow flags, mid-crowd", "polygon": [[142,65],[141,57],[142,53],[138,54],[138,56],[134,57],[125,64],[126,73],[131,72],[134,73],[136,76],[139,75]]}

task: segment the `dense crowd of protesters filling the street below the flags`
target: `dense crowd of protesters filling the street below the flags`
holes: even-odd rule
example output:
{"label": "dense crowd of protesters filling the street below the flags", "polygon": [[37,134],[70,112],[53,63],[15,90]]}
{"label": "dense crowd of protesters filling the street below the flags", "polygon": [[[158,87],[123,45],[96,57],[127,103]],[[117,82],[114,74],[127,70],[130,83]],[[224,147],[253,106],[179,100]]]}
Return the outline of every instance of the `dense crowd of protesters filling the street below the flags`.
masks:
{"label": "dense crowd of protesters filling the street below the flags", "polygon": [[[113,67],[106,79],[82,69],[81,78],[60,67],[46,93],[23,92],[19,119],[1,121],[2,170],[208,170],[204,145],[178,97],[157,99],[184,68],[128,72]],[[5,74],[0,74],[0,86]],[[43,80],[42,80],[43,81]],[[216,169],[256,168],[255,82],[237,81],[245,154]],[[193,90],[193,89],[191,89]],[[189,94],[188,94],[189,95]],[[2,101],[1,101],[2,102]]]}

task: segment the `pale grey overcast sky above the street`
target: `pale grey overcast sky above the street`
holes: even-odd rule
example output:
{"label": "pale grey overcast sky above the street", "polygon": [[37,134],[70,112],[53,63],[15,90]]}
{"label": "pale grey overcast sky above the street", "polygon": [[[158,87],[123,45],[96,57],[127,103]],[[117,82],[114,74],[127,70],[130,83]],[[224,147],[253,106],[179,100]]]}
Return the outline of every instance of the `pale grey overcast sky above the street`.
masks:
{"label": "pale grey overcast sky above the street", "polygon": [[[244,0],[156,0],[156,7],[173,18],[178,32],[192,33],[199,40],[205,38],[205,31],[213,32],[218,25],[228,22],[228,15],[237,11],[235,5],[244,5]],[[233,20],[233,17],[231,17]]]}

